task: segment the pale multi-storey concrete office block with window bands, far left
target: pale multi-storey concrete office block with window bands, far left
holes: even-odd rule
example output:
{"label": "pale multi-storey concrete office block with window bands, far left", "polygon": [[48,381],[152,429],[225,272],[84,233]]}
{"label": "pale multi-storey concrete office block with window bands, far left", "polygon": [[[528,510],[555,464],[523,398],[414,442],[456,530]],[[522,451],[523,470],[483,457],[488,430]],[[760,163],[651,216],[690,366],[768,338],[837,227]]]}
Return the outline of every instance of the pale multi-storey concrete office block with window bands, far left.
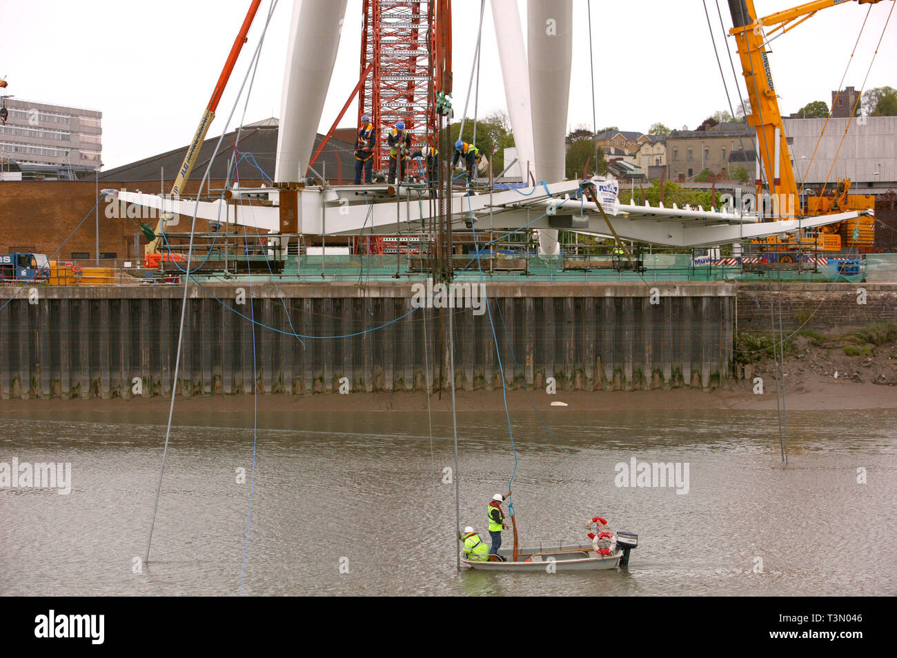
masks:
{"label": "pale multi-storey concrete office block with window bands, far left", "polygon": [[73,179],[102,165],[102,112],[7,98],[9,117],[0,125],[4,179]]}

